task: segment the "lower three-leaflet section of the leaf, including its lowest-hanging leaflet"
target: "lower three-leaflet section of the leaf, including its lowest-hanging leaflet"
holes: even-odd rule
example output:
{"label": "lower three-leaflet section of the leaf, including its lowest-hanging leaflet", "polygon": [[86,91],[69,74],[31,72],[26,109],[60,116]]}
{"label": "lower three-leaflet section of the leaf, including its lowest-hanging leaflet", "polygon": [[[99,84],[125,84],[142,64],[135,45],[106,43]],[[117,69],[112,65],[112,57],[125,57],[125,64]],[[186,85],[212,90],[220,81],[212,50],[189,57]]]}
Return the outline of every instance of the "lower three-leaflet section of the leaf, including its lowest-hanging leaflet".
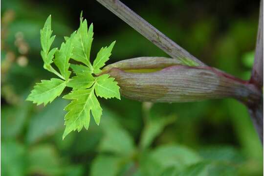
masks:
{"label": "lower three-leaflet section of the leaf, including its lowest-hanging leaflet", "polygon": [[[72,100],[71,103],[66,106],[65,110],[68,113],[65,116],[66,129],[63,138],[71,131],[80,132],[83,127],[88,129],[90,121],[90,111],[92,112],[93,118],[97,125],[100,123],[102,116],[102,108],[94,94],[94,90],[97,96],[104,98],[116,97],[120,99],[119,87],[117,83],[114,82],[114,78],[110,78],[108,74],[101,75],[92,81],[92,76],[86,78],[87,75],[77,74],[73,77],[73,80],[69,83],[75,89],[69,94],[65,95],[63,98]],[[84,80],[87,81],[84,81]],[[91,88],[89,88],[93,85]],[[77,86],[78,88],[74,87]],[[79,87],[80,86],[80,87]],[[81,89],[88,88],[88,89]]]}

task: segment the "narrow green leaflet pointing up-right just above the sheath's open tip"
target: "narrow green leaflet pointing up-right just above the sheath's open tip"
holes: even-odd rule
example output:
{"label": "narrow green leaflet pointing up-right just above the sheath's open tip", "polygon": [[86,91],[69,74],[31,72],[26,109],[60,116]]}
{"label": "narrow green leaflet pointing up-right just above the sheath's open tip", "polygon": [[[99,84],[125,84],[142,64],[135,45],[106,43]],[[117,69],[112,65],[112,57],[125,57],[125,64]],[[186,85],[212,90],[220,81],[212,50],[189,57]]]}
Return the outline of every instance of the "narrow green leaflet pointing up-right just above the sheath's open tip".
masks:
{"label": "narrow green leaflet pointing up-right just above the sheath's open tip", "polygon": [[93,62],[93,72],[95,74],[100,73],[100,68],[105,65],[105,63],[109,60],[111,55],[112,48],[115,44],[115,41],[110,44],[109,47],[102,47],[100,51],[97,53],[97,56]]}

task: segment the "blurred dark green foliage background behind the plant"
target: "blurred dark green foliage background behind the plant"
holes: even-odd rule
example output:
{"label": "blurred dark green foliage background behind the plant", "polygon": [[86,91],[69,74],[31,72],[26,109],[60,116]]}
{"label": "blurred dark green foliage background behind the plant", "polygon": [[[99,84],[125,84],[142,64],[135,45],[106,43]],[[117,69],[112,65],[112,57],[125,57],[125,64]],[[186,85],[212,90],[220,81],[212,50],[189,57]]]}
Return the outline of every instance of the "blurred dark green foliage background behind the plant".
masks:
{"label": "blurred dark green foliage background behind the plant", "polygon": [[[157,29],[208,64],[249,79],[258,0],[123,0]],[[101,124],[62,140],[69,102],[25,102],[51,78],[40,34],[52,15],[54,47],[79,26],[94,24],[91,58],[116,40],[109,64],[167,56],[95,0],[1,1],[2,176],[262,176],[263,149],[246,108],[233,99],[151,104],[100,99]],[[67,89],[66,91],[69,91]],[[91,118],[92,119],[92,118]]]}

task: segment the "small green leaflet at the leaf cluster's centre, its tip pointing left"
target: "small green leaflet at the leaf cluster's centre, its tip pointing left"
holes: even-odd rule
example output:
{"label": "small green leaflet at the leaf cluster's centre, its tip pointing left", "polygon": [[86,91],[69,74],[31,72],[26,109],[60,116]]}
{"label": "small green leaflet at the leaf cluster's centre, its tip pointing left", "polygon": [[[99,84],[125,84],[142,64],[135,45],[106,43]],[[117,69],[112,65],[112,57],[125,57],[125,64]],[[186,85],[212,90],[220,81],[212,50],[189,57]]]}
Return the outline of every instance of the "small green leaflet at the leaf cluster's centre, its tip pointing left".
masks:
{"label": "small green leaflet at the leaf cluster's centre, its tip pointing left", "polygon": [[94,83],[94,78],[91,74],[77,74],[66,84],[68,87],[75,89],[90,88]]}

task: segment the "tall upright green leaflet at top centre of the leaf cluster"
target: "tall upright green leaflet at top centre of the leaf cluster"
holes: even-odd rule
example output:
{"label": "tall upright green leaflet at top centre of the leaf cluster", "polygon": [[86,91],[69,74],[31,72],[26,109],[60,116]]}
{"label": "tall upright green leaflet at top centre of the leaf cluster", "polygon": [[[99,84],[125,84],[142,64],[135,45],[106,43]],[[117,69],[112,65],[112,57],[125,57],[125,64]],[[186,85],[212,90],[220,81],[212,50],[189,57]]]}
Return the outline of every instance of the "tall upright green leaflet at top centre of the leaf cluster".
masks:
{"label": "tall upright green leaflet at top centre of the leaf cluster", "polygon": [[93,36],[93,25],[89,26],[87,30],[87,21],[80,20],[80,27],[76,32],[75,37],[72,40],[74,46],[72,51],[72,59],[82,62],[87,66],[91,67],[89,58],[90,58],[90,49],[92,44]]}

